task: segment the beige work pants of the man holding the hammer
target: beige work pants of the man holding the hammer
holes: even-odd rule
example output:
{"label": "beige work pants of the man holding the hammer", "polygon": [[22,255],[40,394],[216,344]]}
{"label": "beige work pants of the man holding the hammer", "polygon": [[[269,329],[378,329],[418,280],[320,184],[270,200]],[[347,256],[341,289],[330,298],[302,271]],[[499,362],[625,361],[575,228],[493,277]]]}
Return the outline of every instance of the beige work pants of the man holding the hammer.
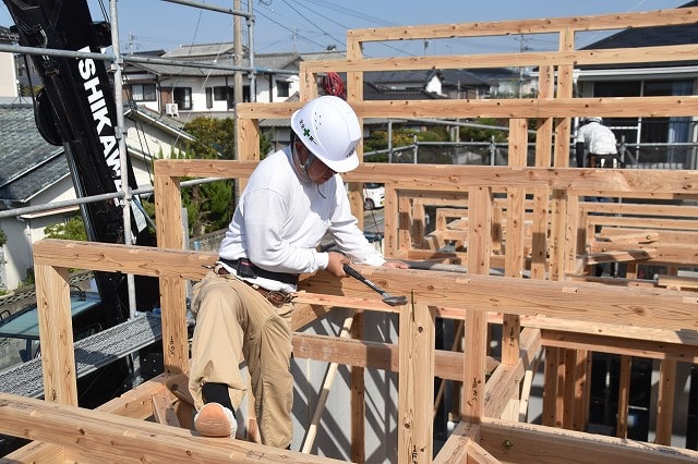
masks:
{"label": "beige work pants of the man holding the hammer", "polygon": [[290,374],[292,304],[280,308],[233,276],[209,272],[193,288],[196,326],[189,389],[196,410],[202,386],[226,383],[236,410],[246,391],[239,363],[250,371],[262,443],[286,448],[292,439],[293,378]]}

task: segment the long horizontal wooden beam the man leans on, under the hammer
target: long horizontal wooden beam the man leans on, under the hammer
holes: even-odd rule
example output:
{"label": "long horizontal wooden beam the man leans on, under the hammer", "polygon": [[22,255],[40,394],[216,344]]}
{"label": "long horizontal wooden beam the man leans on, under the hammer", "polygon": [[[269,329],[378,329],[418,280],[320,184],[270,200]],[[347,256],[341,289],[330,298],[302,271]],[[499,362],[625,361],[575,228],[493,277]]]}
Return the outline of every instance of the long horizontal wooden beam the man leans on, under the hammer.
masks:
{"label": "long horizontal wooden beam the man leans on, under the hammer", "polygon": [[[212,264],[215,255],[190,251],[173,251],[146,246],[96,244],[64,240],[43,240],[34,244],[35,262],[70,262],[82,269],[120,271],[143,276],[177,277],[201,279],[206,269],[203,264]],[[509,314],[547,315],[568,320],[587,322],[619,323],[627,327],[649,327],[681,330],[698,329],[695,312],[698,298],[693,292],[675,292],[662,289],[619,288],[599,285],[590,282],[553,282],[529,279],[512,279],[477,274],[460,274],[417,269],[392,269],[358,265],[358,270],[366,278],[383,286],[389,293],[413,294],[420,301],[442,307],[442,315],[464,318],[467,310],[495,312],[503,308]],[[353,307],[359,302],[353,297],[380,302],[356,279],[339,279],[328,272],[317,272],[312,278],[303,278],[301,290],[318,294],[316,304],[323,304],[326,295],[349,296],[336,298]],[[501,289],[507,292],[502,293]],[[496,295],[493,298],[492,295]],[[311,294],[304,296],[312,303]],[[381,306],[381,305],[376,305]],[[383,304],[383,310],[393,308]],[[361,307],[361,306],[357,306]]]}

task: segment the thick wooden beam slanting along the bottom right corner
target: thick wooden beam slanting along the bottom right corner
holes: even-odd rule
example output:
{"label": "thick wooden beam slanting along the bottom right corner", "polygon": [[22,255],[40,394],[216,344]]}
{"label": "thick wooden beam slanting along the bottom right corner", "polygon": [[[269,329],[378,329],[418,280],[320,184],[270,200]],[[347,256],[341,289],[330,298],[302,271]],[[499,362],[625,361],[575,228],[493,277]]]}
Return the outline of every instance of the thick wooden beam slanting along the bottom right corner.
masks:
{"label": "thick wooden beam slanting along the bottom right corner", "polygon": [[492,418],[482,420],[480,444],[495,459],[514,463],[665,464],[698,460],[693,450]]}

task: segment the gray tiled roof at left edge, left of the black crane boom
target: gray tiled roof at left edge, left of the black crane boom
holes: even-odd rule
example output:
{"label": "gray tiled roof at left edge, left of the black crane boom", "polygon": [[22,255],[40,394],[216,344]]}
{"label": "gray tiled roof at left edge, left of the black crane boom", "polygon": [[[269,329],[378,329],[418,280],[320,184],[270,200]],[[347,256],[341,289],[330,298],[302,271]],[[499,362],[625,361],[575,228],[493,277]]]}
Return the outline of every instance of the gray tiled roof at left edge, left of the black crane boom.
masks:
{"label": "gray tiled roof at left edge, left of the black crane boom", "polygon": [[0,105],[0,200],[27,203],[69,172],[63,148],[44,141],[31,105]]}

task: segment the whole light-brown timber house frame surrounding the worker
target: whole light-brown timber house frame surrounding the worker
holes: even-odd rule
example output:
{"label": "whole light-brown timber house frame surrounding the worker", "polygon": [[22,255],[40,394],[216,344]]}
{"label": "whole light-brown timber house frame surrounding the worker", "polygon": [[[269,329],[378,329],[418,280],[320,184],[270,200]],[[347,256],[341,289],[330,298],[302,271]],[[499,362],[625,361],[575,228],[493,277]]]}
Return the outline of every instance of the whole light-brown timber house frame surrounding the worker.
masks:
{"label": "whole light-brown timber house frame surrounding the worker", "polygon": [[[628,50],[575,49],[578,30],[694,24],[698,9],[574,19],[419,27],[359,29],[348,33],[348,59],[303,63],[302,100],[317,95],[323,72],[348,73],[348,100],[360,118],[477,118],[509,120],[509,166],[396,166],[362,163],[346,174],[353,184],[384,182],[385,251],[392,258],[465,266],[465,272],[359,267],[372,281],[409,304],[389,307],[352,279],[326,272],[304,276],[293,316],[296,357],[352,366],[351,460],[363,462],[363,368],[399,367],[398,456],[400,463],[452,462],[696,462],[698,453],[672,448],[673,389],[660,391],[657,442],[627,440],[627,391],[619,398],[617,437],[583,431],[591,352],[621,354],[628,376],[631,356],[662,363],[662,384],[673,387],[676,363],[698,362],[698,295],[695,284],[675,277],[697,265],[698,207],[674,211],[679,222],[628,223],[622,210],[600,223],[585,195],[618,198],[694,200],[694,171],[571,169],[570,118],[580,115],[696,115],[698,97],[623,99],[573,98],[576,64],[695,60],[698,48],[651,47]],[[559,51],[493,56],[364,59],[361,45],[376,40],[557,33]],[[538,66],[540,96],[513,100],[364,101],[362,73],[385,69]],[[622,100],[622,101],[618,101]],[[185,376],[189,345],[185,283],[198,280],[215,256],[183,251],[180,179],[238,179],[250,175],[260,159],[258,120],[288,118],[300,103],[249,103],[238,109],[238,161],[177,160],[155,166],[159,248],[45,240],[34,247],[40,309],[45,396],[49,401],[0,394],[0,432],[36,442],[4,462],[332,462],[312,454],[274,450],[243,440],[196,437]],[[535,161],[526,166],[528,120],[537,121]],[[504,200],[502,199],[504,198]],[[441,235],[423,233],[428,205],[443,208]],[[614,204],[612,204],[614,205]],[[454,207],[457,206],[457,211]],[[607,208],[615,208],[609,206]],[[595,208],[603,207],[597,205]],[[643,208],[634,212],[641,215]],[[662,211],[654,211],[661,216]],[[455,216],[454,216],[455,215]],[[613,216],[615,215],[615,216]],[[458,223],[449,218],[457,217]],[[617,217],[617,218],[616,218]],[[614,221],[617,219],[617,221]],[[678,224],[678,225],[677,225]],[[600,225],[601,233],[595,233]],[[619,229],[614,230],[614,229]],[[448,239],[444,239],[449,233]],[[457,239],[454,239],[459,234]],[[462,249],[442,253],[440,240],[460,240]],[[606,245],[599,244],[603,242]],[[666,267],[665,285],[641,279],[599,282],[588,274],[593,262],[624,260],[631,266]],[[503,276],[491,276],[491,269]],[[160,279],[165,373],[119,399],[86,411],[76,407],[76,382],[69,304],[68,268],[155,276]],[[528,272],[530,279],[521,277]],[[603,284],[607,283],[607,284]],[[611,284],[613,283],[613,284]],[[334,307],[353,308],[351,338],[304,334],[303,327]],[[399,314],[399,343],[361,339],[362,314]],[[435,318],[459,321],[464,352],[434,350]],[[504,328],[502,357],[488,356],[488,325]],[[521,422],[526,386],[545,355],[543,425]],[[433,455],[433,378],[462,383],[460,423]],[[629,376],[628,376],[629,377]],[[627,384],[628,379],[625,380]],[[622,389],[623,390],[623,389]],[[622,410],[625,403],[625,412]],[[525,416],[525,414],[524,414]],[[155,418],[155,423],[143,419]],[[169,424],[169,425],[168,425]],[[180,425],[181,427],[173,427]],[[627,426],[627,424],[625,424]]]}

